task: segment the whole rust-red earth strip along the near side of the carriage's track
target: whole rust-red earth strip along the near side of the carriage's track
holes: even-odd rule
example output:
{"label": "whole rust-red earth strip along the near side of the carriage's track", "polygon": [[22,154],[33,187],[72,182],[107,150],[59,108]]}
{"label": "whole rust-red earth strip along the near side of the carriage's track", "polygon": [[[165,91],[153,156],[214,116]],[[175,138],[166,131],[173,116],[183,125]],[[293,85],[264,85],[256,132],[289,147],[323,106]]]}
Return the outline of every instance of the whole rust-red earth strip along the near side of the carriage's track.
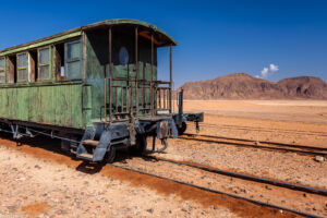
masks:
{"label": "whole rust-red earth strip along the near side of the carriage's track", "polygon": [[[44,148],[31,147],[24,144],[17,147],[14,142],[8,140],[0,140],[0,144],[3,146],[14,148],[15,150],[22,152],[24,154],[29,154],[37,158],[50,159],[58,164],[69,165],[74,168],[78,168],[78,166],[83,165],[82,161],[73,160],[68,156],[63,156],[62,154],[56,154]],[[94,170],[93,167],[89,166],[84,169],[88,171]],[[175,182],[170,182],[145,174],[130,172],[110,166],[106,166],[96,170],[99,171],[99,173],[102,175],[120,181],[126,181],[135,186],[146,186],[150,190],[155,190],[159,194],[174,194],[182,197],[182,199],[184,201],[194,201],[196,203],[199,203],[204,207],[215,205],[218,207],[227,207],[232,213],[242,217],[299,217],[291,213],[280,213],[278,209],[258,206],[246,201],[229,197],[227,195],[213,194],[210,192],[202,191],[195,187],[190,187]]]}

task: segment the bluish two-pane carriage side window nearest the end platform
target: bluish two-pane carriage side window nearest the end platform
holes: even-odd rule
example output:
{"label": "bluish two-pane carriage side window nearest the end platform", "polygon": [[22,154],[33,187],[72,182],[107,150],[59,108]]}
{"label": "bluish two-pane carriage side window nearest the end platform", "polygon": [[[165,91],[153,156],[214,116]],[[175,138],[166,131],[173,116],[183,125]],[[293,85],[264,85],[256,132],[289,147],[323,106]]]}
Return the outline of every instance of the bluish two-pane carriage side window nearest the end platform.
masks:
{"label": "bluish two-pane carriage side window nearest the end platform", "polygon": [[68,80],[82,78],[82,48],[80,40],[65,44],[65,74]]}

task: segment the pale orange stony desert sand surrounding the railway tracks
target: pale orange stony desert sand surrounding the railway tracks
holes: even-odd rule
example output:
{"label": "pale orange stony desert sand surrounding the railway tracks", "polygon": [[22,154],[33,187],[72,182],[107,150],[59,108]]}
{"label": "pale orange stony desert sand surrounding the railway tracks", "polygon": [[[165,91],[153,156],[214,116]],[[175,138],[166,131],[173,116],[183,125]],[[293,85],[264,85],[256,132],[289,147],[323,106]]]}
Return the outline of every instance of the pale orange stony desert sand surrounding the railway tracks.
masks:
{"label": "pale orange stony desert sand surrounding the railway tracks", "polygon": [[[286,100],[195,101],[201,134],[327,148],[327,102]],[[241,128],[240,128],[241,126]],[[190,124],[187,133],[196,133]],[[226,195],[82,162],[45,138],[17,146],[0,138],[0,217],[298,217]],[[327,190],[327,161],[230,144],[169,140],[166,154],[215,168]],[[327,197],[210,174],[121,154],[116,165],[327,217]]]}

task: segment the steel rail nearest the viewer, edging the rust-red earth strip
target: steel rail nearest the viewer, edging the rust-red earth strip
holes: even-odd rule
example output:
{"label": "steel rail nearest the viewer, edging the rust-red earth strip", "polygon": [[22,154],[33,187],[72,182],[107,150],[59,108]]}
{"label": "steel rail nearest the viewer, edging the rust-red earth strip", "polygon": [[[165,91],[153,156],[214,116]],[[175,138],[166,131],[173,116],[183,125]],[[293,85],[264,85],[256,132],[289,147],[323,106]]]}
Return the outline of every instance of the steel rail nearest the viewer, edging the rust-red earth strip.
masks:
{"label": "steel rail nearest the viewer, edging the rust-red earth strip", "polygon": [[141,170],[135,170],[135,169],[132,169],[132,168],[122,167],[122,166],[118,166],[118,165],[114,165],[114,164],[109,164],[109,165],[113,166],[113,167],[117,167],[117,168],[124,169],[124,170],[129,170],[129,171],[132,171],[132,172],[137,172],[140,174],[146,174],[146,175],[158,178],[158,179],[161,179],[161,180],[167,180],[167,181],[175,182],[175,183],[179,183],[179,184],[192,186],[192,187],[195,187],[195,189],[198,189],[198,190],[203,190],[203,191],[207,191],[207,192],[211,192],[211,193],[216,193],[216,194],[222,194],[222,195],[227,195],[227,196],[230,196],[230,197],[233,197],[233,198],[238,198],[238,199],[243,199],[243,201],[256,204],[256,205],[266,206],[266,207],[270,207],[270,208],[275,208],[275,209],[286,210],[286,211],[293,213],[293,214],[296,214],[296,215],[300,215],[300,216],[303,216],[303,217],[322,218],[322,217],[316,216],[316,215],[306,214],[306,213],[303,213],[303,211],[290,209],[290,208],[287,208],[287,207],[281,207],[281,206],[278,206],[278,205],[272,205],[272,204],[265,203],[265,202],[259,202],[259,201],[256,201],[256,199],[251,199],[251,198],[247,198],[247,197],[242,197],[242,196],[230,194],[230,193],[227,193],[227,192],[211,190],[211,189],[208,189],[208,187],[204,187],[204,186],[191,184],[191,183],[187,183],[187,182],[182,182],[182,181],[174,180],[174,179],[169,179],[169,178],[157,175],[157,174],[153,174],[153,173],[149,173],[149,172],[144,172],[144,171],[141,171]]}

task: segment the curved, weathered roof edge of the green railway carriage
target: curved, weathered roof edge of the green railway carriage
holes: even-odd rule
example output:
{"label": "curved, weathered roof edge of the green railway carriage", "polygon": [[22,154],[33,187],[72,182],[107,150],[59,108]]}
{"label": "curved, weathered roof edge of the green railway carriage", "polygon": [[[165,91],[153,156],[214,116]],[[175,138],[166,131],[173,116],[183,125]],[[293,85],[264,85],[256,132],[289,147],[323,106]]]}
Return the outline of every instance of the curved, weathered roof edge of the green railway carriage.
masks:
{"label": "curved, weathered roof edge of the green railway carriage", "polygon": [[178,43],[171,36],[169,36],[167,33],[165,33],[164,31],[161,31],[160,28],[158,28],[155,25],[152,25],[149,23],[138,21],[138,20],[116,19],[116,20],[107,20],[107,21],[101,21],[101,22],[97,22],[97,23],[94,23],[94,24],[88,24],[88,25],[85,25],[85,26],[81,26],[81,27],[72,28],[70,31],[62,32],[60,34],[55,34],[52,36],[48,36],[48,37],[45,37],[45,38],[33,40],[33,41],[29,41],[29,43],[26,43],[26,44],[22,44],[22,45],[13,46],[13,47],[10,47],[10,48],[1,49],[0,50],[0,56],[5,56],[5,55],[15,53],[15,52],[32,49],[32,48],[45,46],[45,45],[48,45],[48,44],[51,44],[51,43],[57,43],[57,41],[60,41],[60,40],[64,40],[66,38],[73,38],[73,37],[76,37],[78,35],[82,35],[82,31],[90,29],[93,27],[98,27],[98,26],[104,26],[104,25],[108,25],[108,26],[110,26],[110,25],[124,25],[124,24],[138,25],[138,26],[144,26],[144,27],[150,28],[155,33],[164,35],[169,40],[169,43],[171,45],[173,45],[173,46],[178,45]]}

